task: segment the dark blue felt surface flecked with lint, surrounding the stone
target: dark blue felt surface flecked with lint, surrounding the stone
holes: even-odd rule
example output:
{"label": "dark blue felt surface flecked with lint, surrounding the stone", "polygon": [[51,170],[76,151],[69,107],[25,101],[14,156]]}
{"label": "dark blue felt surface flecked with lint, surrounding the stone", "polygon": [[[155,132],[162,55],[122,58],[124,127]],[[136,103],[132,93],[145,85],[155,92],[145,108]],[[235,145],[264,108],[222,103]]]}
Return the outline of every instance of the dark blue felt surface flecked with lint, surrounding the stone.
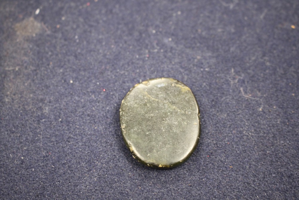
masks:
{"label": "dark blue felt surface flecked with lint, surrounding the stone", "polygon": [[[39,10],[37,10],[39,8]],[[0,2],[0,199],[298,199],[299,4]],[[141,80],[195,94],[183,165],[132,158],[120,102]]]}

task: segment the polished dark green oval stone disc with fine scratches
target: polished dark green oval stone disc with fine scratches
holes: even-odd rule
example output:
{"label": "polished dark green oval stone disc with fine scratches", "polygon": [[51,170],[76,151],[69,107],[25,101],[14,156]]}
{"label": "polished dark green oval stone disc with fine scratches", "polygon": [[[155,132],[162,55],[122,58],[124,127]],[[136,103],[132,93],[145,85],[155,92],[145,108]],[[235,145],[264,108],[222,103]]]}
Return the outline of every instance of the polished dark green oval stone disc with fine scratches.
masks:
{"label": "polished dark green oval stone disc with fine scratches", "polygon": [[136,84],[120,106],[123,139],[133,157],[144,165],[172,168],[196,149],[200,116],[186,85],[172,78]]}

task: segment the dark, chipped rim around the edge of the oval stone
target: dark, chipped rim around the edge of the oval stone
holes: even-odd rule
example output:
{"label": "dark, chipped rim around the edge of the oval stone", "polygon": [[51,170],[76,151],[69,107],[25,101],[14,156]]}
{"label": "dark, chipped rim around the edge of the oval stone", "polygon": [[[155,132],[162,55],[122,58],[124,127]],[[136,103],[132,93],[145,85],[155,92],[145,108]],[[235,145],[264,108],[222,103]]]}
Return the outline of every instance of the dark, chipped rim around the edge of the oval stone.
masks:
{"label": "dark, chipped rim around the edge of the oval stone", "polygon": [[[142,84],[143,82],[147,82],[147,81],[151,81],[151,80],[156,80],[156,79],[173,79],[173,78],[168,78],[168,77],[152,78],[152,79],[147,79],[147,80],[144,80],[144,81],[142,81],[142,82],[140,82],[140,83],[137,83],[136,85],[134,85],[134,87],[132,87],[132,88],[128,91],[128,93],[126,94],[126,96],[123,97],[123,100],[126,99],[126,97],[130,94],[130,92],[131,92],[135,87],[137,87],[138,85]],[[177,82],[180,82],[181,84],[183,84],[183,85],[185,85],[186,87],[188,87],[186,84],[184,84],[183,82],[181,82],[181,81],[179,81],[179,80],[176,80],[176,79],[173,79],[173,80],[175,80],[175,81],[177,81]],[[189,87],[188,87],[188,88],[189,88]],[[189,89],[190,89],[190,88],[189,88]],[[193,94],[193,92],[192,92],[191,89],[190,89],[190,91],[191,91],[191,93]],[[200,135],[201,135],[200,110],[199,110],[199,106],[198,106],[198,103],[197,103],[197,100],[196,100],[196,97],[195,97],[194,94],[193,94],[193,97],[194,97],[194,99],[195,99],[196,106],[197,106],[197,108],[198,108],[198,113],[197,113],[198,121],[199,121],[199,133],[198,133],[198,137],[196,138],[196,142],[195,142],[195,144],[194,144],[194,147],[193,147],[193,149],[189,152],[189,154],[188,154],[183,160],[181,160],[180,162],[174,163],[172,166],[161,166],[161,165],[158,165],[158,164],[155,164],[155,163],[147,163],[147,162],[145,162],[144,160],[140,159],[140,158],[135,154],[135,152],[131,150],[132,148],[131,148],[130,145],[126,142],[126,139],[125,139],[125,137],[124,137],[123,129],[120,128],[120,130],[121,130],[121,134],[122,134],[122,136],[123,136],[123,141],[125,142],[126,146],[129,148],[129,150],[130,150],[132,156],[133,156],[139,163],[142,163],[142,164],[144,164],[145,166],[149,166],[149,167],[156,168],[156,169],[170,169],[170,168],[174,168],[174,167],[177,167],[177,166],[183,164],[184,162],[186,162],[186,161],[191,157],[191,155],[193,154],[193,152],[196,150],[196,148],[197,148],[197,146],[198,146],[199,138],[200,138]],[[122,104],[123,104],[123,100],[122,100],[122,102],[121,102],[121,104],[120,104],[120,109],[121,109],[121,106],[122,106]],[[121,123],[120,123],[120,127],[121,127]]]}

